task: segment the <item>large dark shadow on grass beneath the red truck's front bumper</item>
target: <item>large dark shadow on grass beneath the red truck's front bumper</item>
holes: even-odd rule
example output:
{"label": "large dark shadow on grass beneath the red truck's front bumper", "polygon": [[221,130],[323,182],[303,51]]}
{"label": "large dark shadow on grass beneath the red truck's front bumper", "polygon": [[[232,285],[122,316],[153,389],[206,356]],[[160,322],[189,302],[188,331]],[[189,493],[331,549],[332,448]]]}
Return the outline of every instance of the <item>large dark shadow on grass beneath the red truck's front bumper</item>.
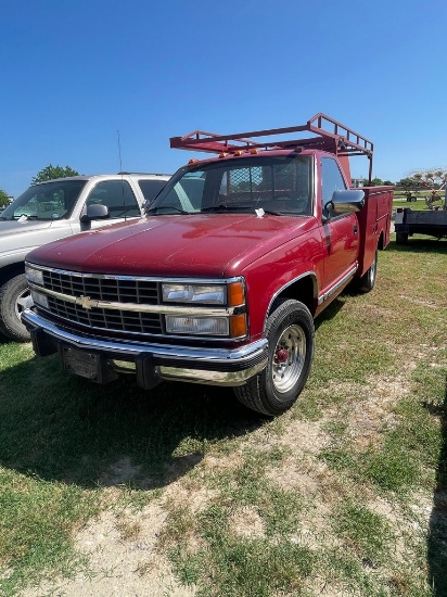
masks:
{"label": "large dark shadow on grass beneath the red truck's front bumper", "polygon": [[16,359],[0,372],[0,466],[46,481],[162,487],[210,446],[265,422],[231,389],[164,383],[146,392],[131,376],[95,385],[64,373],[55,355],[34,357],[29,344],[1,348]]}

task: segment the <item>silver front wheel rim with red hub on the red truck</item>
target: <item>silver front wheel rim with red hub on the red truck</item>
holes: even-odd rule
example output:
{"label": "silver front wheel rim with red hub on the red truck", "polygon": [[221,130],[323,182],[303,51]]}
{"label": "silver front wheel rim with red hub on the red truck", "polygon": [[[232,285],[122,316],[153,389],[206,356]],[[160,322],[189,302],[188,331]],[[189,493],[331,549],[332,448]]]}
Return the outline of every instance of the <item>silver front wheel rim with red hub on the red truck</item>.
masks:
{"label": "silver front wheel rim with red hub on the red truck", "polygon": [[306,356],[306,335],[299,326],[286,328],[274,346],[271,376],[274,389],[281,394],[293,389],[303,371]]}

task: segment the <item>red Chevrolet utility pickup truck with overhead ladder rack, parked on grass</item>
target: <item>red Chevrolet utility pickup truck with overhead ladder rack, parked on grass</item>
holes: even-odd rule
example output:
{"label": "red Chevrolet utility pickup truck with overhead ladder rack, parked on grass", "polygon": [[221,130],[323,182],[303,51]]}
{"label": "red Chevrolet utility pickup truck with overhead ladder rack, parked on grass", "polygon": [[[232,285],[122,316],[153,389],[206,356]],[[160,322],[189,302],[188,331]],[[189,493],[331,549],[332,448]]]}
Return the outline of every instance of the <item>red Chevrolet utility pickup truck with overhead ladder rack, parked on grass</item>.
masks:
{"label": "red Chevrolet utility pickup truck with overhead ladder rack, parked on grass", "polygon": [[349,156],[371,179],[373,145],[323,114],[170,144],[214,155],[180,168],[145,217],[28,254],[35,352],[98,383],[232,386],[279,415],[309,374],[315,317],[349,283],[372,290],[393,188],[349,188]]}

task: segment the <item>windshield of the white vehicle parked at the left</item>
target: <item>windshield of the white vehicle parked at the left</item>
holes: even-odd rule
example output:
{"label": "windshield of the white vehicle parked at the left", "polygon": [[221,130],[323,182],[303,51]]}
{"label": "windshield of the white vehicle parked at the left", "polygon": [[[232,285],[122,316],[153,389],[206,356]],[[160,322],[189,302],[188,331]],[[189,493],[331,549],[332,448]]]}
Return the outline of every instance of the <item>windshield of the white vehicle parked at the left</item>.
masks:
{"label": "windshield of the white vehicle parked at the left", "polygon": [[33,185],[4,209],[0,219],[66,218],[86,182],[86,180],[60,180]]}

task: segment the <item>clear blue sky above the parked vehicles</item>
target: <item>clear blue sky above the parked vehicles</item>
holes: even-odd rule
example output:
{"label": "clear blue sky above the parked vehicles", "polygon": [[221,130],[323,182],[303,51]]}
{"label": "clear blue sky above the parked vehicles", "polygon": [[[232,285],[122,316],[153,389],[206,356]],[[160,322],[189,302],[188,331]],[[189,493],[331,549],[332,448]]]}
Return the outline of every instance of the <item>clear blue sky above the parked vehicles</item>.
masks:
{"label": "clear blue sky above the parked vehicles", "polygon": [[373,176],[447,166],[445,0],[1,0],[0,15],[11,195],[50,163],[118,172],[117,131],[123,169],[169,174],[194,155],[169,137],[317,112],[373,141]]}

